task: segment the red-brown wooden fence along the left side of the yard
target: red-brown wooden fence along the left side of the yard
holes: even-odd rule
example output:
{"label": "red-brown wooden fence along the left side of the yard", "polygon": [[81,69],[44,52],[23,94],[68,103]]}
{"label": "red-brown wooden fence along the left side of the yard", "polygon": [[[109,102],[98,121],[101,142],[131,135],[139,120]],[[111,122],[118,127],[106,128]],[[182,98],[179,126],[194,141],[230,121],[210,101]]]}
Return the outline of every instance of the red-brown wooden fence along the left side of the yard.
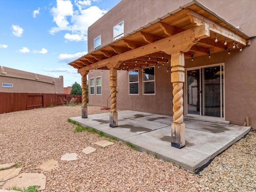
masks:
{"label": "red-brown wooden fence along the left side of the yard", "polygon": [[70,102],[72,97],[76,98],[77,104],[82,102],[82,95],[0,92],[0,114],[66,105],[66,101]]}

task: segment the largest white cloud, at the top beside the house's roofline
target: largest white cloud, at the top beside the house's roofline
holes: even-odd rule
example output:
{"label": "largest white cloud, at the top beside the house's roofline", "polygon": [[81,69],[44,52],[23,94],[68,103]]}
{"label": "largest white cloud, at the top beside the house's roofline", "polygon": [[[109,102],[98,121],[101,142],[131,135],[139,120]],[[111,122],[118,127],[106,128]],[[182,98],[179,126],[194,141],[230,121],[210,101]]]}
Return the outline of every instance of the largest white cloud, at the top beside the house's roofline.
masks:
{"label": "largest white cloud, at the top beside the house's roofline", "polygon": [[67,30],[70,33],[65,34],[66,40],[86,41],[88,27],[107,12],[97,6],[90,6],[91,3],[91,0],[75,0],[74,6],[78,10],[73,11],[70,0],[57,0],[57,6],[51,10],[56,26],[49,30],[50,34]]}

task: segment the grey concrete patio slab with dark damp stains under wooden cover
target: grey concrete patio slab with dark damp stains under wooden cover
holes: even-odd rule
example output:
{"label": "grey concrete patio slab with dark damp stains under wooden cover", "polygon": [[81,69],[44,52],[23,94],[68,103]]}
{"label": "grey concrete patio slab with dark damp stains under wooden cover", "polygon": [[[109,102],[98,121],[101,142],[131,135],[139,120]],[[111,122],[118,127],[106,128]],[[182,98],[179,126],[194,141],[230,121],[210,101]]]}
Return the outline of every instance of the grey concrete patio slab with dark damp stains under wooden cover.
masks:
{"label": "grey concrete patio slab with dark damp stains under wooden cover", "polygon": [[140,150],[174,162],[191,172],[204,167],[250,131],[250,127],[187,119],[184,120],[186,146],[177,149],[171,146],[172,116],[130,110],[119,111],[118,127],[115,128],[109,127],[109,113],[89,115],[88,118],[72,117],[70,120],[95,128],[124,142],[131,142]]}

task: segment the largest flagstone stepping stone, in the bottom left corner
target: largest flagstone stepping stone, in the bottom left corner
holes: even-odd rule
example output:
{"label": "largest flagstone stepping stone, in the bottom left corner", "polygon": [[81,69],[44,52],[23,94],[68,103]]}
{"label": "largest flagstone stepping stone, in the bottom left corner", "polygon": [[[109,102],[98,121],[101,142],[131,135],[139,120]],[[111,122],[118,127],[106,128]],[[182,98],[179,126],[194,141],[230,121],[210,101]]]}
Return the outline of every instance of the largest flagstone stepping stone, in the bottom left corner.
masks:
{"label": "largest flagstone stepping stone, in the bottom left corner", "polygon": [[38,190],[44,190],[46,184],[46,176],[42,173],[22,173],[6,182],[2,189],[8,189],[13,186],[20,188],[28,188],[29,186],[38,185]]}

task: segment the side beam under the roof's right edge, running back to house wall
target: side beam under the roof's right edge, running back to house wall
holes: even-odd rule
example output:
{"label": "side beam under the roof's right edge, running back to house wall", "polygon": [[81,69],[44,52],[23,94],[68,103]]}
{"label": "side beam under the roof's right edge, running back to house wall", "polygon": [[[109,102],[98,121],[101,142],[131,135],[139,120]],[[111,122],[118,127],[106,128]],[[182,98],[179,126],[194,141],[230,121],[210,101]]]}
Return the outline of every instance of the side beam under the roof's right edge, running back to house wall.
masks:
{"label": "side beam under the roof's right edge, running back to house wall", "polygon": [[190,10],[187,9],[187,14],[190,17],[190,21],[195,25],[195,26],[200,26],[202,24],[208,24],[210,26],[210,31],[220,34],[226,38],[229,38],[235,42],[238,42],[239,44],[242,44],[246,46],[246,39],[239,36],[238,34],[228,30],[227,28],[221,26],[220,24]]}

